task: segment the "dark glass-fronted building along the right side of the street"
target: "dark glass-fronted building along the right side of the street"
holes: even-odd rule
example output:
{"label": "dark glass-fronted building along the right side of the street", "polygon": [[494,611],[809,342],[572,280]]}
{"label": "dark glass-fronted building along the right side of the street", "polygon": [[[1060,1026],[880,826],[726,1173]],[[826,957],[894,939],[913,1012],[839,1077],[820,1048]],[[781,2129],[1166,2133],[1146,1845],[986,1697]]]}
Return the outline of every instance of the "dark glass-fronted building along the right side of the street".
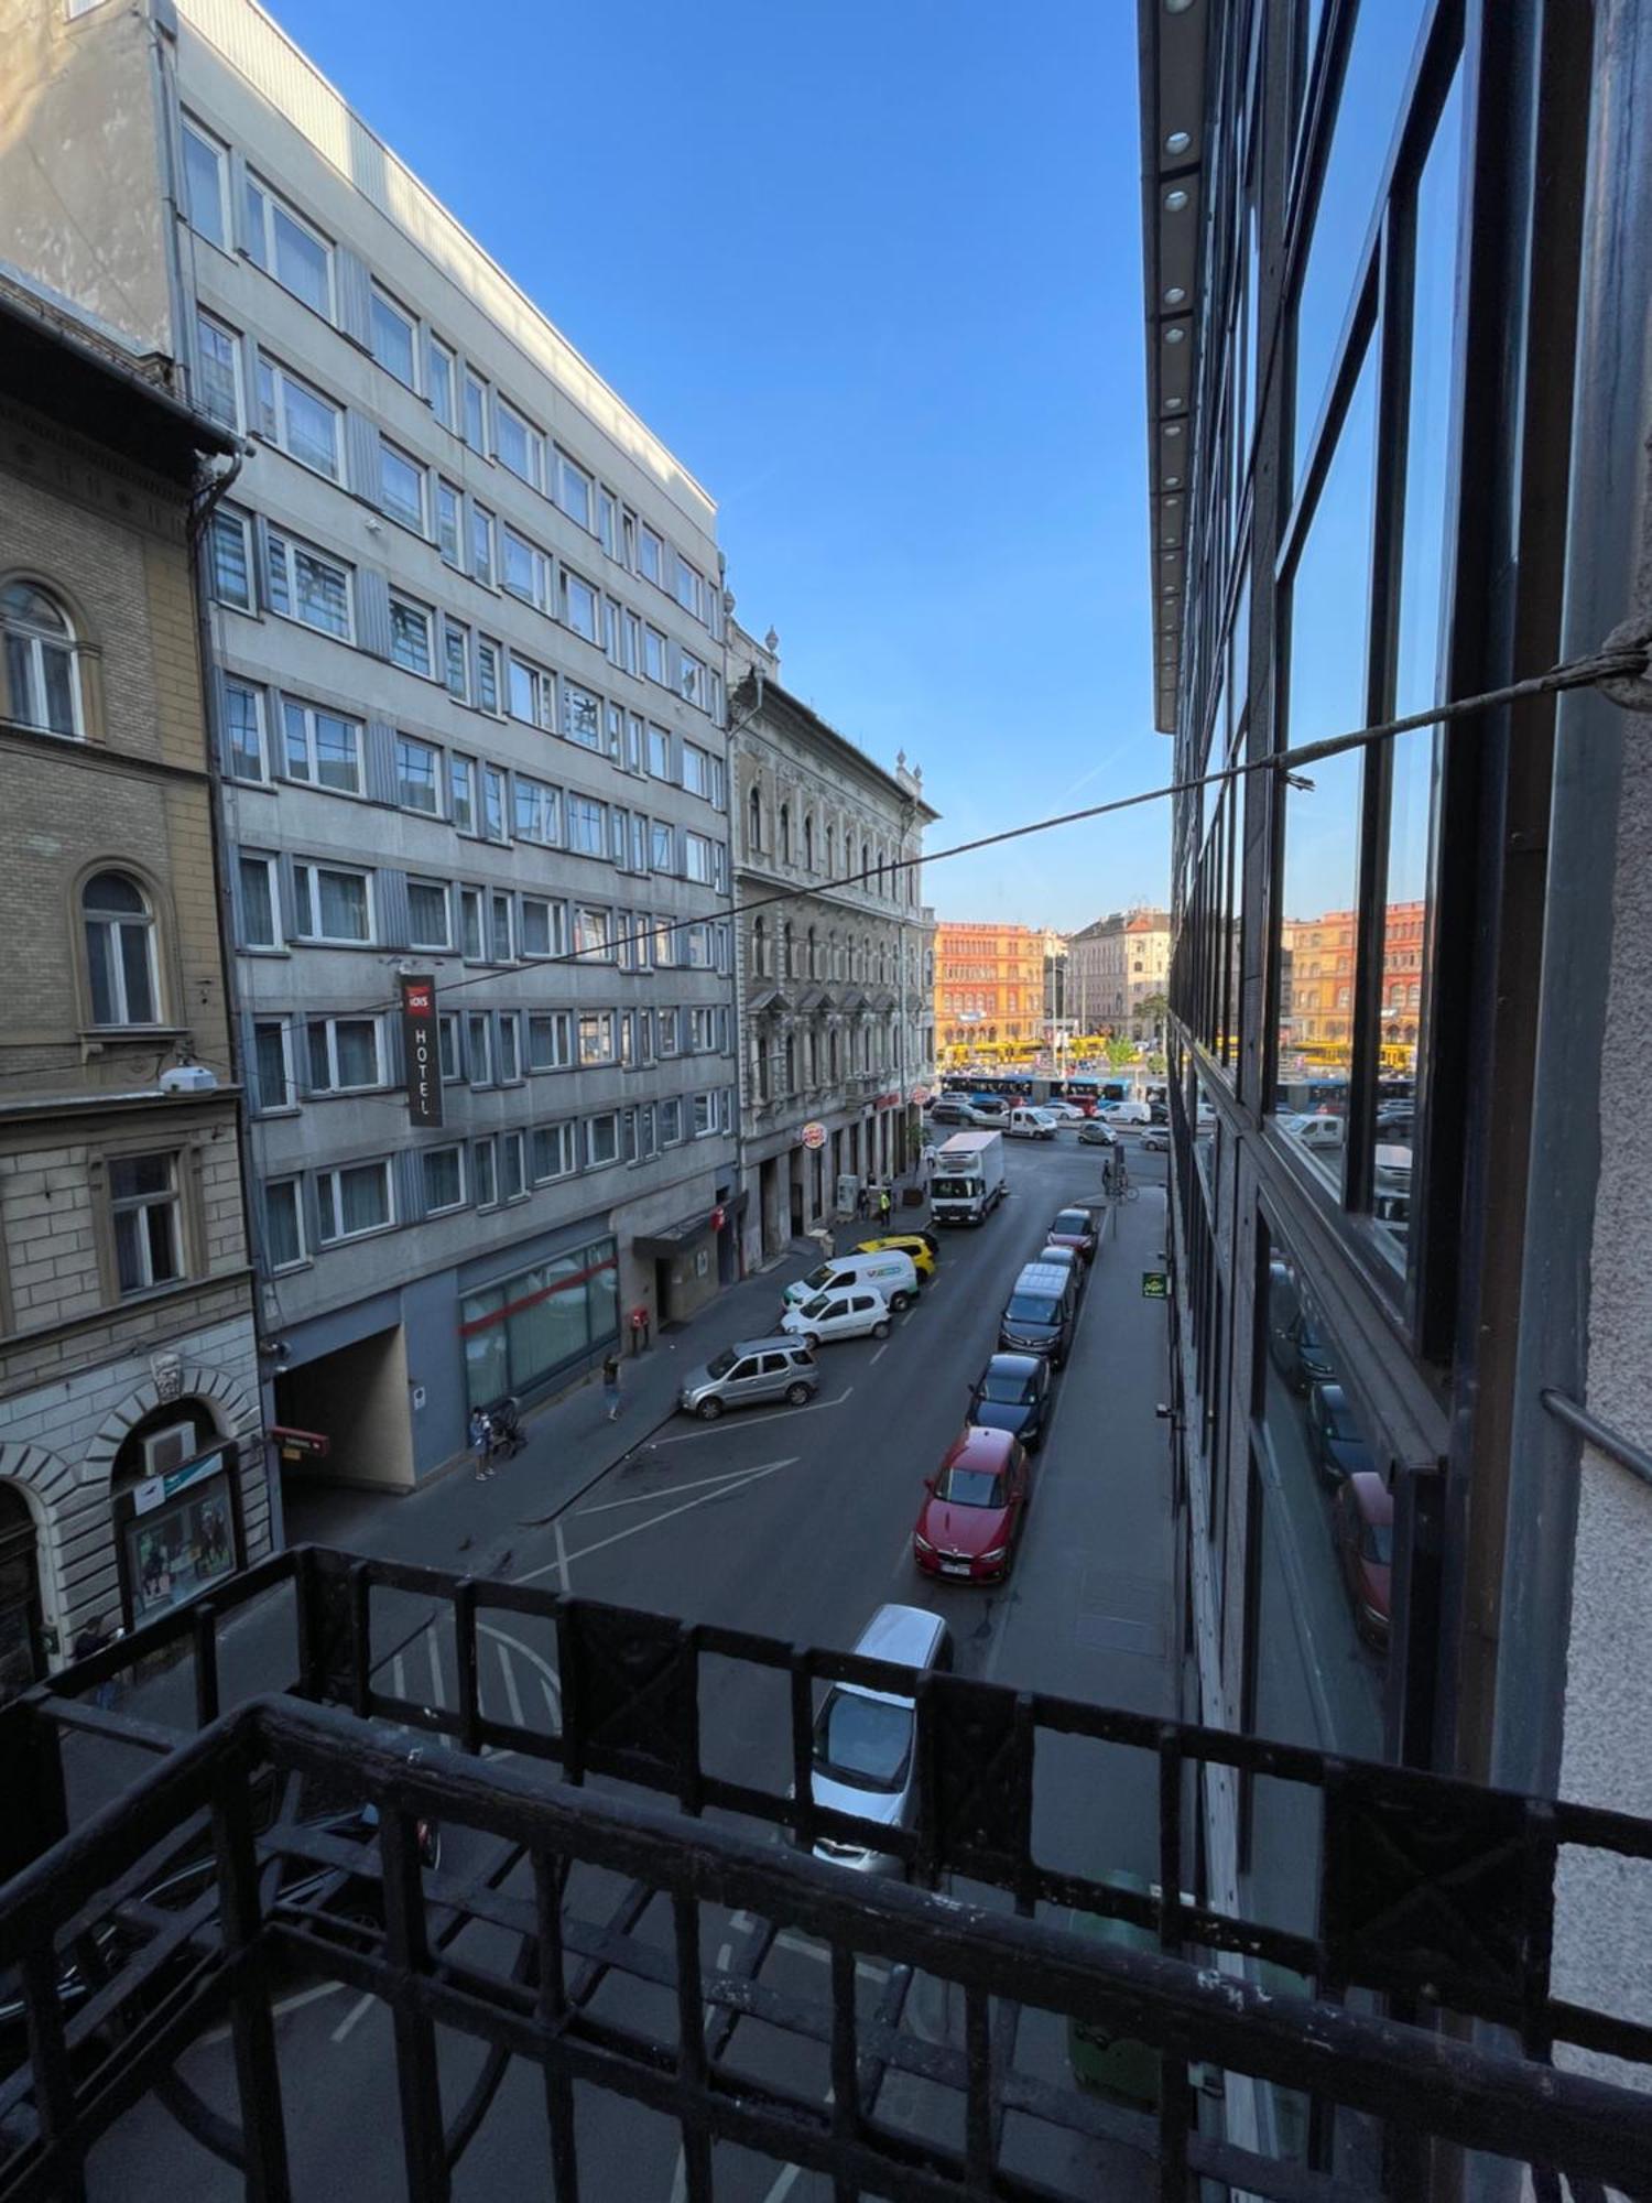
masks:
{"label": "dark glass-fronted building along the right side of the street", "polygon": [[[1176,780],[1645,650],[1650,31],[1141,0]],[[1176,809],[1207,1723],[1652,1811],[1648,709],[1597,681]],[[1218,1906],[1311,1910],[1267,1784],[1203,1811]],[[1643,2011],[1645,1879],[1557,1890],[1553,1992]]]}

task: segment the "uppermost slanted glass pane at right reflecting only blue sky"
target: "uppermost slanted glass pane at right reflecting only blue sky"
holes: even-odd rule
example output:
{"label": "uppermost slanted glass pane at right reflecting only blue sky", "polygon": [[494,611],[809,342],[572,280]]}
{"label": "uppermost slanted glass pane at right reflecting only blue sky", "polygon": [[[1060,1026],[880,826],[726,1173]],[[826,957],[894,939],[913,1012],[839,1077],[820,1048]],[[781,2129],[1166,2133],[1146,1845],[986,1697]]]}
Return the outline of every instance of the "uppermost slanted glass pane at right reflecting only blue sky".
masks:
{"label": "uppermost slanted glass pane at right reflecting only blue sky", "polygon": [[1341,79],[1324,181],[1308,238],[1295,313],[1295,469],[1302,480],[1337,337],[1348,317],[1355,269],[1377,211],[1399,99],[1425,0],[1363,0]]}

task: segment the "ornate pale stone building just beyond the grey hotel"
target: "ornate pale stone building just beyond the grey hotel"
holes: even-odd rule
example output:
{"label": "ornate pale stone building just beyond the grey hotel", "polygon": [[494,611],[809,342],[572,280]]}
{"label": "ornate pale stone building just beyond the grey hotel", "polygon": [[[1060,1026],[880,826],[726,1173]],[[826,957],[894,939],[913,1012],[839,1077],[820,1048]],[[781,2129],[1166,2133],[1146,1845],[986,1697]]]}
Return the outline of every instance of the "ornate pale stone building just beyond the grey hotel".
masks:
{"label": "ornate pale stone building just beyond the grey hotel", "polygon": [[938,813],[905,756],[885,773],[782,687],[773,630],[758,643],[731,623],[729,670],[756,1265],[828,1218],[844,1181],[890,1179],[912,1159],[914,1090],[934,1077],[934,912],[919,859]]}

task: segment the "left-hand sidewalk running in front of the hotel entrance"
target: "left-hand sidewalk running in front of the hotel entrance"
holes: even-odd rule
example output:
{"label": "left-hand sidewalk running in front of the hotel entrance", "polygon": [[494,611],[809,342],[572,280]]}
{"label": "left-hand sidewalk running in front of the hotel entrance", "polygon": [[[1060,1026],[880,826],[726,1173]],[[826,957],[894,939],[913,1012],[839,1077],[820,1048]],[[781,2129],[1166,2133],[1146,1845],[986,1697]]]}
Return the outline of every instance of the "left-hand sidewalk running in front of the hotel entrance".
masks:
{"label": "left-hand sidewalk running in front of the hotel entrance", "polygon": [[[925,1214],[896,1207],[890,1229],[916,1229]],[[877,1229],[874,1223],[837,1225],[833,1245],[841,1251]],[[775,1328],[782,1289],[806,1276],[817,1260],[813,1242],[793,1240],[767,1269],[725,1287],[681,1331],[656,1337],[643,1355],[626,1355],[617,1423],[604,1410],[597,1370],[562,1397],[529,1408],[522,1419],[526,1447],[513,1461],[500,1461],[498,1474],[487,1483],[476,1483],[469,1456],[425,1478],[414,1491],[289,1483],[286,1542],[328,1544],[346,1553],[425,1562],[471,1575],[504,1575],[509,1555],[544,1516],[623,1461],[676,1410],[687,1370],[731,1339],[762,1337]]]}

